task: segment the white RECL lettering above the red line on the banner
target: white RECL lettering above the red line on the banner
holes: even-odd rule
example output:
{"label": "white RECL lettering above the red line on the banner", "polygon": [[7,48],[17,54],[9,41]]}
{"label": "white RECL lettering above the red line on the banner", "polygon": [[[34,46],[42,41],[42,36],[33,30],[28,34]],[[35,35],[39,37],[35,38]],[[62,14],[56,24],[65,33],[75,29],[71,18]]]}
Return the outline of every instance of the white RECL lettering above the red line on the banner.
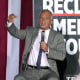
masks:
{"label": "white RECL lettering above the red line on the banner", "polygon": [[[52,13],[59,13],[59,14],[63,14],[64,11],[65,13],[68,14],[72,13],[79,14],[80,10],[78,3],[79,3],[78,0],[43,0],[43,9],[49,9]],[[69,4],[74,5],[74,7],[70,8]]]}

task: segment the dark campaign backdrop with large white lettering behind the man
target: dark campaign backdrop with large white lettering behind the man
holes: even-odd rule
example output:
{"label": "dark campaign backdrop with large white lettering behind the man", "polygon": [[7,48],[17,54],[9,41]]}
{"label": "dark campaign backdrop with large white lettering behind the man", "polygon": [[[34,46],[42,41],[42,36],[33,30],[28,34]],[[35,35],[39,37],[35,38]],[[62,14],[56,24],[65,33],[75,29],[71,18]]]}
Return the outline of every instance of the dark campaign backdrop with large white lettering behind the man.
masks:
{"label": "dark campaign backdrop with large white lettering behind the man", "polygon": [[53,14],[51,28],[64,35],[66,59],[57,61],[58,70],[64,80],[73,80],[80,72],[80,0],[33,0],[33,25],[38,27],[38,16],[42,9]]}

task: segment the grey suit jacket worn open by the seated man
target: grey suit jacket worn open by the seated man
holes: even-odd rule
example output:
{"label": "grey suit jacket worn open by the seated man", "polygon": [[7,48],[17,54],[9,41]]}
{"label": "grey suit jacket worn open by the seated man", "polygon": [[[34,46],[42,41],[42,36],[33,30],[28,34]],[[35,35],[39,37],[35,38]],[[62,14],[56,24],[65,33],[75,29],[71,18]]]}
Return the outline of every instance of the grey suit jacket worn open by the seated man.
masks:
{"label": "grey suit jacket worn open by the seated man", "polygon": [[[27,59],[38,35],[39,28],[27,27],[25,30],[19,30],[13,23],[10,27],[7,27],[7,29],[11,35],[25,41],[21,65],[21,70],[23,71],[23,68],[25,69],[25,67],[27,67]],[[51,29],[47,44],[49,47],[47,59],[50,69],[58,74],[56,60],[64,60],[66,56],[64,37],[60,33]]]}

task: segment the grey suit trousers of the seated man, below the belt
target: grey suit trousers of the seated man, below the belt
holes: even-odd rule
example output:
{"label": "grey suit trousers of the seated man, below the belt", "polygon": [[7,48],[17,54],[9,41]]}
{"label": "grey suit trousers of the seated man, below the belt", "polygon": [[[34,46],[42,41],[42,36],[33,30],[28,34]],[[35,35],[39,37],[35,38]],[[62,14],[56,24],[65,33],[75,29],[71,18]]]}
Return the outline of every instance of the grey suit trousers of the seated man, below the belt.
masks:
{"label": "grey suit trousers of the seated man, below the belt", "polygon": [[27,69],[18,74],[14,80],[59,80],[59,76],[50,69]]}

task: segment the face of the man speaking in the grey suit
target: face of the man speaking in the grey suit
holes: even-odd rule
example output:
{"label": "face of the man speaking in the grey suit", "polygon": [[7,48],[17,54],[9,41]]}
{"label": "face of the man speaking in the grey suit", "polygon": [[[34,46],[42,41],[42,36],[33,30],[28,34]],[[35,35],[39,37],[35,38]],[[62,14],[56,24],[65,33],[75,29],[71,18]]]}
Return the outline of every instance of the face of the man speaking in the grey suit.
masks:
{"label": "face of the man speaking in the grey suit", "polygon": [[38,19],[39,27],[42,30],[47,30],[52,24],[51,14],[49,12],[42,12]]}

